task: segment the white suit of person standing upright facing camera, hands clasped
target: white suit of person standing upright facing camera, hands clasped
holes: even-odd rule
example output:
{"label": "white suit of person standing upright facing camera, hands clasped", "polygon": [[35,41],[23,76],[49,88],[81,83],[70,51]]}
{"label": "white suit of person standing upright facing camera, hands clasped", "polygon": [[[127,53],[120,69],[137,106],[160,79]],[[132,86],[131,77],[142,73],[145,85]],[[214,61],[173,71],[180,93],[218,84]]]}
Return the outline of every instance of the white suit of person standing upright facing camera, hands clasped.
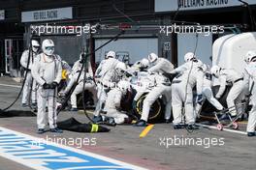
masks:
{"label": "white suit of person standing upright facing camera, hands clasped", "polygon": [[57,55],[48,57],[41,53],[37,56],[37,60],[32,67],[32,76],[39,84],[38,88],[38,114],[37,125],[38,128],[45,128],[46,122],[46,104],[48,102],[48,124],[49,128],[56,128],[57,114],[56,114],[56,97],[57,88],[44,89],[45,83],[56,82],[61,80],[61,60]]}

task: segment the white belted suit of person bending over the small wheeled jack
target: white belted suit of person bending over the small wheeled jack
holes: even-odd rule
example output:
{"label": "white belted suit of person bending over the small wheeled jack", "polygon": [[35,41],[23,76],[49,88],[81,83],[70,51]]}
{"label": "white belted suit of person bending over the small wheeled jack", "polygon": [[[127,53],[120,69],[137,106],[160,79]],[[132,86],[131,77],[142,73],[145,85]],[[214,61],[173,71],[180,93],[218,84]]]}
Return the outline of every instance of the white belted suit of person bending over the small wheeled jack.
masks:
{"label": "white belted suit of person bending over the small wheeled jack", "polygon": [[[221,96],[225,92],[227,83],[233,84],[226,100],[227,100],[228,108],[230,108],[231,115],[236,116],[237,111],[235,108],[235,102],[236,103],[241,102],[242,97],[244,95],[242,93],[244,90],[242,74],[240,74],[239,72],[237,72],[235,70],[231,70],[231,69],[225,70],[224,69],[224,70],[220,71],[218,80],[220,83],[220,87],[219,87],[218,93],[215,96],[216,99],[221,98]],[[239,106],[239,108],[240,109],[238,109],[238,112],[241,112],[241,106]]]}

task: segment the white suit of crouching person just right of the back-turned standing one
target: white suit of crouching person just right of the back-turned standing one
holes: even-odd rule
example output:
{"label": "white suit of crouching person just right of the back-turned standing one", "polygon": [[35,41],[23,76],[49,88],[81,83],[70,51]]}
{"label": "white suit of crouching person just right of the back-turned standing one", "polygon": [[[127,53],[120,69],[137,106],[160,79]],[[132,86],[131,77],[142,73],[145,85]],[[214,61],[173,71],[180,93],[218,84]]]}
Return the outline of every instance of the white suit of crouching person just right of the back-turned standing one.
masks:
{"label": "white suit of crouching person just right of the back-turned standing one", "polygon": [[[212,75],[207,71],[204,75],[204,80],[203,80],[203,88],[202,88],[202,95],[205,99],[208,99],[208,102],[211,103],[217,110],[223,110],[222,104],[214,98],[214,95],[211,90],[212,87]],[[197,103],[196,106],[196,114],[200,115],[202,104]],[[197,116],[195,115],[195,116]]]}

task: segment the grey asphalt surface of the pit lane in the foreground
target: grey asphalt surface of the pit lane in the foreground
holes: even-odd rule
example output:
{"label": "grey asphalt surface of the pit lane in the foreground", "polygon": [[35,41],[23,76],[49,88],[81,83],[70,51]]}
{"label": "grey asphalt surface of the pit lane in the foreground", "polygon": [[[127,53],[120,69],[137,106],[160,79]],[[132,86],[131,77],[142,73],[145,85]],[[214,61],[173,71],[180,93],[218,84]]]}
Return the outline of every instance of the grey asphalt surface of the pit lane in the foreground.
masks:
{"label": "grey asphalt surface of the pit lane in the foreground", "polygon": [[[9,77],[0,77],[0,84],[20,85]],[[17,96],[19,88],[0,85],[0,108],[8,106]],[[20,99],[12,110],[28,110],[20,106]],[[87,123],[84,115],[77,112],[63,111],[58,120],[75,117],[82,123]],[[0,118],[0,127],[10,128],[37,137],[46,138],[96,138],[95,146],[82,146],[80,149],[102,156],[110,156],[117,160],[139,165],[148,169],[170,170],[215,170],[215,169],[255,169],[256,167],[256,137],[200,128],[192,133],[185,129],[174,130],[172,124],[156,124],[145,136],[139,135],[144,128],[132,126],[117,126],[108,133],[77,133],[64,131],[62,134],[36,134],[36,117]],[[244,128],[242,128],[244,130]],[[170,145],[167,139],[193,138],[208,141],[223,138],[224,145]],[[165,139],[165,142],[163,142]],[[165,145],[164,145],[165,143]],[[206,143],[205,143],[206,144]],[[76,147],[76,146],[74,146]],[[78,147],[78,146],[77,146]],[[16,162],[0,157],[0,169],[29,169]]]}

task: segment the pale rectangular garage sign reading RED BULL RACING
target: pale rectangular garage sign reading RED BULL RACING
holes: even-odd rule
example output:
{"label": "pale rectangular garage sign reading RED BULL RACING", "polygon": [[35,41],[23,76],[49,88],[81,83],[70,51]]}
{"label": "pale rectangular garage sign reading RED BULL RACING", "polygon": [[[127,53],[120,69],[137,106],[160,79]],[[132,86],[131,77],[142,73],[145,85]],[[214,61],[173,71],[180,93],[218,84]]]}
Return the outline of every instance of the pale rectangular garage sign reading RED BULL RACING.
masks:
{"label": "pale rectangular garage sign reading RED BULL RACING", "polygon": [[72,19],[72,7],[21,13],[21,22]]}

